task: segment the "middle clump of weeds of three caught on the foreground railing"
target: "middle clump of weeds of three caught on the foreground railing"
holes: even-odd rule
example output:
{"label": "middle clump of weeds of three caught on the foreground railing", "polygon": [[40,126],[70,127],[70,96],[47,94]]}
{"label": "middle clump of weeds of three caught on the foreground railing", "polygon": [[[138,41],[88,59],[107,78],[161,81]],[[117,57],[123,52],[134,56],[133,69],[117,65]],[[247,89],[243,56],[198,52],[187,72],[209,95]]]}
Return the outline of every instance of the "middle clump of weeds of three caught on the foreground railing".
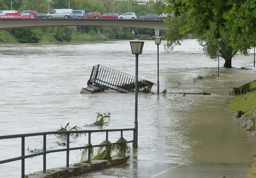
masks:
{"label": "middle clump of weeds of three caught on the foreground railing", "polygon": [[112,144],[110,141],[103,141],[100,145],[106,145],[103,147],[99,147],[97,151],[97,155],[95,155],[93,160],[111,160],[111,152],[112,152]]}

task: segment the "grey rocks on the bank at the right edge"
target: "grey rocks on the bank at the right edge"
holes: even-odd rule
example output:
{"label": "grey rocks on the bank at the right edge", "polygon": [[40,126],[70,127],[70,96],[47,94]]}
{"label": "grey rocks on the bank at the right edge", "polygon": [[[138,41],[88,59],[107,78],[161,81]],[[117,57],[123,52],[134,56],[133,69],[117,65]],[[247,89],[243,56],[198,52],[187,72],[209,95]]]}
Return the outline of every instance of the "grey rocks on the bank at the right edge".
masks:
{"label": "grey rocks on the bank at the right edge", "polygon": [[234,118],[237,118],[240,122],[240,125],[251,132],[251,135],[256,135],[256,127],[255,127],[255,118],[256,118],[256,110],[251,109],[250,115],[245,116],[244,112],[241,110],[237,110],[233,114]]}

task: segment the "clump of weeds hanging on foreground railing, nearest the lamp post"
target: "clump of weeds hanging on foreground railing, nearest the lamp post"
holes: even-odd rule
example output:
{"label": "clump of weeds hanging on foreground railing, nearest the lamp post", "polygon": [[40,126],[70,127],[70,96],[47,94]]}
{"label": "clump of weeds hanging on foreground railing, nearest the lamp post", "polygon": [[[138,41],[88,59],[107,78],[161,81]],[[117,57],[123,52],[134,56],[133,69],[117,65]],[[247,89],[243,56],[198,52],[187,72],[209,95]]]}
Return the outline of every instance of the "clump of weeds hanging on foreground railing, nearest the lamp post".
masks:
{"label": "clump of weeds hanging on foreground railing, nearest the lamp post", "polygon": [[131,147],[128,145],[126,139],[119,138],[116,142],[121,143],[120,145],[112,145],[113,152],[116,153],[116,156],[125,157],[130,155]]}

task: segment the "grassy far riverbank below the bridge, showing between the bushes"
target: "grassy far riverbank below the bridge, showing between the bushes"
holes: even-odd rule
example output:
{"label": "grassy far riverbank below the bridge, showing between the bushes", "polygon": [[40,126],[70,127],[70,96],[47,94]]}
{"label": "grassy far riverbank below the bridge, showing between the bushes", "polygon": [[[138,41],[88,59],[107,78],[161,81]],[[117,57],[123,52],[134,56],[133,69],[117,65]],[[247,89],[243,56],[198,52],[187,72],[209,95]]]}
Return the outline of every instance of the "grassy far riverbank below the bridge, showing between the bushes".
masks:
{"label": "grassy far riverbank below the bridge, showing between the bushes", "polygon": [[[108,41],[108,38],[102,34],[98,33],[80,33],[74,32],[72,34],[71,43],[82,43],[85,41]],[[54,33],[43,33],[42,39],[39,43],[55,43],[59,42],[55,37]],[[20,43],[12,33],[9,31],[2,31],[2,36],[0,37],[0,43]]]}

